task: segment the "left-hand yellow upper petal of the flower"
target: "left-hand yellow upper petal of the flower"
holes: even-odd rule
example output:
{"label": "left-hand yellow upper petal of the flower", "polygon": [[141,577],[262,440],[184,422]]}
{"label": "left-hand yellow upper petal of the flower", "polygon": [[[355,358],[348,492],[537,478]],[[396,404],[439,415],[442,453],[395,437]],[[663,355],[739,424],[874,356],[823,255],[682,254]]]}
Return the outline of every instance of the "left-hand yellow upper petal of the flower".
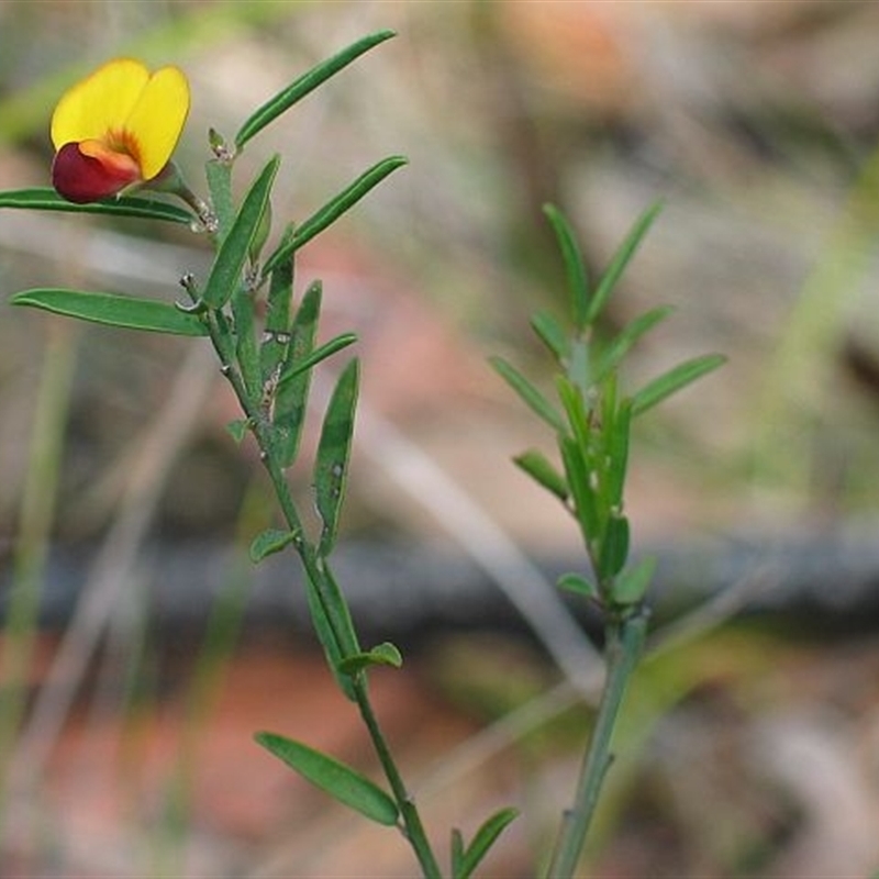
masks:
{"label": "left-hand yellow upper petal of the flower", "polygon": [[121,130],[148,81],[149,71],[133,58],[115,58],[99,67],[58,101],[52,116],[55,149]]}

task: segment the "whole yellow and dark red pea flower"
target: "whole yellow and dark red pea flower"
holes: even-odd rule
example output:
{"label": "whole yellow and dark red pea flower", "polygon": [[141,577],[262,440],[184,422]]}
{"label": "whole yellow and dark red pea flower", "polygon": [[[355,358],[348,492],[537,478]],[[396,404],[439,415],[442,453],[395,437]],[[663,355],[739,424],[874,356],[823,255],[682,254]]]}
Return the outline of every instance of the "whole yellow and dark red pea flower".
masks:
{"label": "whole yellow and dark red pea flower", "polygon": [[115,58],[74,86],[52,116],[52,183],[88,202],[162,175],[189,113],[189,85],[177,67],[151,74]]}

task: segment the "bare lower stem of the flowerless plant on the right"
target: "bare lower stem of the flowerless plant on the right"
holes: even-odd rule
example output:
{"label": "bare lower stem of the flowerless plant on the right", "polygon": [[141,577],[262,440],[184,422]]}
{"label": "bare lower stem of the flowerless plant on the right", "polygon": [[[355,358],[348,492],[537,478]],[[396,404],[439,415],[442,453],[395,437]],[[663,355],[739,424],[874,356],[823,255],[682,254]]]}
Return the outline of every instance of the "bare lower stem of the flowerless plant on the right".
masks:
{"label": "bare lower stem of the flowerless plant on the right", "polygon": [[570,879],[577,869],[604,777],[613,761],[613,730],[626,687],[641,657],[646,632],[647,614],[644,610],[621,620],[610,620],[607,624],[608,677],[589,748],[580,768],[574,805],[565,812],[561,820],[561,828],[549,863],[548,879]]}

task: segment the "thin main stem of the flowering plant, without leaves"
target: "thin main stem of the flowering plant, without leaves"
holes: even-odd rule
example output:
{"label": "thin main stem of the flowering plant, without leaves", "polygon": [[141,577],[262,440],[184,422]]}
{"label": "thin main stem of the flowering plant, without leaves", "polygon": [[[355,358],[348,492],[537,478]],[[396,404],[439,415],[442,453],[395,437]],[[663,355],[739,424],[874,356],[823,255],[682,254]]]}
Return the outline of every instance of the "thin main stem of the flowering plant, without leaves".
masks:
{"label": "thin main stem of the flowering plant, without leaves", "polygon": [[[326,577],[329,576],[324,565],[321,564],[319,553],[311,541],[308,539],[299,512],[296,508],[296,502],[290,493],[290,486],[283,476],[283,468],[277,460],[275,455],[274,444],[271,442],[270,426],[266,422],[265,415],[259,410],[259,407],[252,400],[247,393],[247,388],[244,380],[235,366],[233,365],[233,353],[227,338],[224,335],[223,329],[216,321],[209,320],[210,337],[213,346],[220,357],[222,364],[223,375],[232,385],[235,396],[238,399],[238,404],[242,408],[245,416],[249,421],[251,430],[259,446],[260,457],[263,465],[268,472],[271,481],[275,496],[280,505],[281,513],[283,514],[287,526],[297,535],[293,541],[293,547],[299,554],[302,566],[305,570],[305,576],[312,583],[318,600],[321,602],[324,615],[330,624],[333,637],[336,644],[342,646],[345,644],[343,634],[336,624],[335,614],[332,612],[334,603],[327,598],[327,590],[330,588]],[[341,650],[344,653],[344,650]],[[369,692],[366,686],[366,676],[361,672],[353,680],[353,692],[355,701],[360,712],[360,716],[366,724],[369,737],[372,741],[372,747],[379,758],[385,776],[390,785],[397,806],[400,810],[402,817],[402,831],[412,850],[421,865],[424,879],[441,879],[442,871],[436,861],[436,857],[431,848],[427,839],[427,834],[424,831],[424,825],[421,821],[418,808],[414,800],[408,792],[402,779],[402,775],[391,755],[388,747],[385,734],[381,732],[376,713],[369,699]]]}

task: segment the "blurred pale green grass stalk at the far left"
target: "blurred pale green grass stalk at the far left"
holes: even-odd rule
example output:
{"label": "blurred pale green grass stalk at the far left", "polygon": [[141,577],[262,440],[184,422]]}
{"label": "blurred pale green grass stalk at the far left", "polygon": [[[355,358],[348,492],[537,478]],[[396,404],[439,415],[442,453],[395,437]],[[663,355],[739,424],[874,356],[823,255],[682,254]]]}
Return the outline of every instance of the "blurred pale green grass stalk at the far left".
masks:
{"label": "blurred pale green grass stalk at the far left", "polygon": [[79,330],[67,321],[48,323],[40,387],[31,427],[31,454],[15,537],[12,587],[5,610],[0,690],[0,823],[15,737],[27,704],[27,675],[40,623],[40,594],[55,514],[58,469],[70,401]]}

